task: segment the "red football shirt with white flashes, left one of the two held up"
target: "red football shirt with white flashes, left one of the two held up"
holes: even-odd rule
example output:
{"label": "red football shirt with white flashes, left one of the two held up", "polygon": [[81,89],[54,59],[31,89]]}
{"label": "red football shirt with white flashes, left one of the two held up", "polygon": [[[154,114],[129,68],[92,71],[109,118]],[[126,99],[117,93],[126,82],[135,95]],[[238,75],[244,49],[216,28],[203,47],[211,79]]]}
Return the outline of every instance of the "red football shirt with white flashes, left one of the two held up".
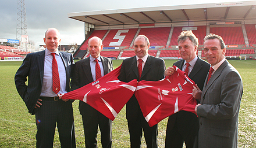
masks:
{"label": "red football shirt with white flashes, left one of the two held up", "polygon": [[67,92],[62,99],[79,99],[88,103],[112,121],[133,96],[137,80],[129,83],[118,80],[121,65],[107,75],[77,90]]}

